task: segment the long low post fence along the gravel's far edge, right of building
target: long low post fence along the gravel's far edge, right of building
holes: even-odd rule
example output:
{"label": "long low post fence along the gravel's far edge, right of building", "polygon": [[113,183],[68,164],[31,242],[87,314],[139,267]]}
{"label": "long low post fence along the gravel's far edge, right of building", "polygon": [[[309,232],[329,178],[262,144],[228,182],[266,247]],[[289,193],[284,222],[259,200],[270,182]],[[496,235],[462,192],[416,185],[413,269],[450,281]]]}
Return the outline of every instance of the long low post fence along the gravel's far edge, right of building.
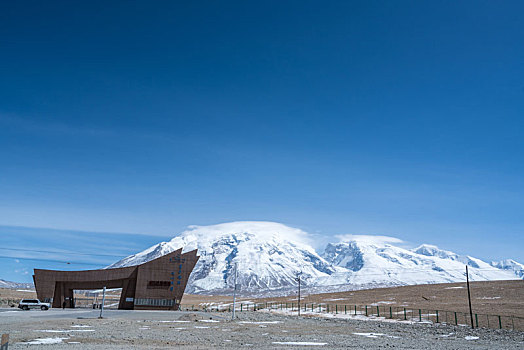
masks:
{"label": "long low post fence along the gravel's far edge, right of building", "polygon": [[[231,304],[225,305],[182,305],[186,310],[203,311],[232,311]],[[237,303],[236,312],[248,312],[257,310],[274,310],[288,313],[298,313],[297,303]],[[382,317],[399,321],[411,321],[422,323],[441,323],[471,327],[471,316],[469,312],[458,312],[448,310],[413,309],[387,305],[347,305],[347,304],[314,304],[301,303],[300,311],[303,315],[315,315],[330,313],[334,315],[347,315],[351,317]],[[473,314],[473,326],[475,328],[510,329],[524,331],[524,317],[511,315],[488,315]]]}

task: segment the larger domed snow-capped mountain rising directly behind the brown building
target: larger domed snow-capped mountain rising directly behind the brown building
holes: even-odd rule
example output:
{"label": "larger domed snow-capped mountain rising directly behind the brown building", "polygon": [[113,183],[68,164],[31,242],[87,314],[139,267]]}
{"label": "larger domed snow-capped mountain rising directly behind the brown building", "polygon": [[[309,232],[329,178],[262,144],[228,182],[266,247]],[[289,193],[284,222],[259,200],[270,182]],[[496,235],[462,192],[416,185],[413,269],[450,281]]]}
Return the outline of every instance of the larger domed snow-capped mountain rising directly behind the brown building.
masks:
{"label": "larger domed snow-capped mountain rising directly behind the brown building", "polygon": [[232,222],[191,226],[169,242],[162,242],[110,267],[141,264],[180,247],[198,249],[200,259],[191,274],[190,293],[231,290],[234,265],[243,292],[295,286],[301,273],[305,284],[333,274],[327,263],[307,243],[304,231],[274,222]]}

